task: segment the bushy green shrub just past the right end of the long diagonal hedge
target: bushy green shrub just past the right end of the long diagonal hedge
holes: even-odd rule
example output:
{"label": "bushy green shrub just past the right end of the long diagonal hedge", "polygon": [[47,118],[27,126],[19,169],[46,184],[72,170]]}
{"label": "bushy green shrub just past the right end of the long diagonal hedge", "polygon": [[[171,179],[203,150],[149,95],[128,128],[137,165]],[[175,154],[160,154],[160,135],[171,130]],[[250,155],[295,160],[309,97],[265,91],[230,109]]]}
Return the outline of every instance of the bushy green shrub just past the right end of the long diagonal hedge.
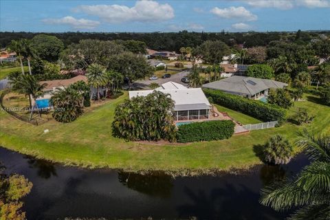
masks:
{"label": "bushy green shrub just past the right end of the long diagonal hedge", "polygon": [[271,89],[267,100],[270,104],[277,104],[285,109],[289,109],[294,104],[287,89]]}

